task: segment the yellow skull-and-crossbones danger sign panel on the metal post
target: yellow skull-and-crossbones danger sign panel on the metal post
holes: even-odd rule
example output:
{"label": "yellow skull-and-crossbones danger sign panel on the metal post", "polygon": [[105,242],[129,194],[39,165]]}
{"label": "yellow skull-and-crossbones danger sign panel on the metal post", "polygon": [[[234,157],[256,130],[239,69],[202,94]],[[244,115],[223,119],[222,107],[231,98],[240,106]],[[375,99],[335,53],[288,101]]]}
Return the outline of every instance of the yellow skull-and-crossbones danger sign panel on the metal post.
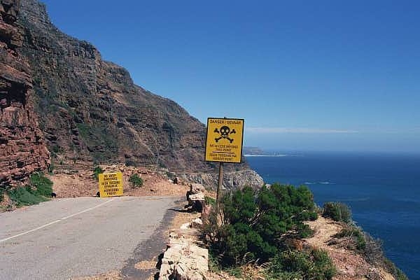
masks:
{"label": "yellow skull-and-crossbones danger sign panel on the metal post", "polygon": [[243,119],[208,118],[205,160],[240,163],[243,136]]}

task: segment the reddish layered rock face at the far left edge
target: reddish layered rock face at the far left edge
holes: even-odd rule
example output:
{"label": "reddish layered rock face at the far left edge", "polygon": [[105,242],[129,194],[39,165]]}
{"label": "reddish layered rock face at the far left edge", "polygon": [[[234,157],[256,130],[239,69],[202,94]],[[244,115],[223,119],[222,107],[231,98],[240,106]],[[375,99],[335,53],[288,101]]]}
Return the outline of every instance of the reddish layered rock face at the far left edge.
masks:
{"label": "reddish layered rock face at the far left edge", "polygon": [[38,129],[31,71],[16,48],[19,0],[0,0],[0,186],[25,181],[48,167],[49,153]]}

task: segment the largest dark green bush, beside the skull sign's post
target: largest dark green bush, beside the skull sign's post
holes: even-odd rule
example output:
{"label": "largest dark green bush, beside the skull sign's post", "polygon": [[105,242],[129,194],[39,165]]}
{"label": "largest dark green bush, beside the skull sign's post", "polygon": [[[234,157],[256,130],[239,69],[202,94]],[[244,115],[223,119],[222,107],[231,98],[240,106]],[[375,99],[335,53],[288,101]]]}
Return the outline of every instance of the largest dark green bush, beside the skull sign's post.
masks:
{"label": "largest dark green bush, beside the skull sign's post", "polygon": [[[246,187],[225,195],[214,207],[202,232],[221,266],[231,267],[251,260],[266,262],[279,252],[283,236],[308,236],[302,221],[314,217],[313,196],[308,188],[274,184],[258,193]],[[307,213],[307,214],[304,214]]]}

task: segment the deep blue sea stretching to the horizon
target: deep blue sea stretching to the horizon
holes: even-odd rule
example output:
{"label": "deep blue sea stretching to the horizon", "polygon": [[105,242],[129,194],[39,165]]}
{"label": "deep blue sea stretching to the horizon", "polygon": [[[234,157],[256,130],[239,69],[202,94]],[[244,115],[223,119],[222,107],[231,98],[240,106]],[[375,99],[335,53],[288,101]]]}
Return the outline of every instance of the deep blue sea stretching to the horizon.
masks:
{"label": "deep blue sea stretching to the horizon", "polygon": [[353,220],[384,241],[386,256],[420,279],[420,155],[291,153],[246,157],[266,183],[306,185],[316,204],[344,202]]}

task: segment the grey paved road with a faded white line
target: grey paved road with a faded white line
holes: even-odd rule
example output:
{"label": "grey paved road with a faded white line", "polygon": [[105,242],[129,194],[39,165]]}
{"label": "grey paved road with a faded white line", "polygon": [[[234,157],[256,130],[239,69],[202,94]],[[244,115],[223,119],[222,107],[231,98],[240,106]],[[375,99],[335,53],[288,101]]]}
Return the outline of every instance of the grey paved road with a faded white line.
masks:
{"label": "grey paved road with a faded white line", "polygon": [[137,244],[153,238],[174,200],[78,197],[1,213],[0,279],[69,279],[120,270]]}

